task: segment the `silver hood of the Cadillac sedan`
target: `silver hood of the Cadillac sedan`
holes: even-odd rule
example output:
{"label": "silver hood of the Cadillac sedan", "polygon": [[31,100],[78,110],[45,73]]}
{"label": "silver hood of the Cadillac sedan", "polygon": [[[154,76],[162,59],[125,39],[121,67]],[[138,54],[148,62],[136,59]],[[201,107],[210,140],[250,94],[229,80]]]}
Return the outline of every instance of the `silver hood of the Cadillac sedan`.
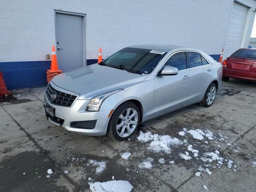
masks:
{"label": "silver hood of the Cadillac sedan", "polygon": [[138,84],[146,76],[93,64],[59,74],[52,79],[52,82],[60,88],[80,94],[78,99],[82,100]]}

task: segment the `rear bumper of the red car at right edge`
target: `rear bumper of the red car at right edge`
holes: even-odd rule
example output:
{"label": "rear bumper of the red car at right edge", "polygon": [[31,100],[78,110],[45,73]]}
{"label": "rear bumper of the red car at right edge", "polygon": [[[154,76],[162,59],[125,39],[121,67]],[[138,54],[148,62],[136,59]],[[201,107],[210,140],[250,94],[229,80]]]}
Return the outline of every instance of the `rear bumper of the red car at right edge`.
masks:
{"label": "rear bumper of the red car at right edge", "polygon": [[222,76],[224,77],[256,81],[255,72],[239,71],[239,70],[227,69],[225,67],[223,67],[222,69],[223,69]]}

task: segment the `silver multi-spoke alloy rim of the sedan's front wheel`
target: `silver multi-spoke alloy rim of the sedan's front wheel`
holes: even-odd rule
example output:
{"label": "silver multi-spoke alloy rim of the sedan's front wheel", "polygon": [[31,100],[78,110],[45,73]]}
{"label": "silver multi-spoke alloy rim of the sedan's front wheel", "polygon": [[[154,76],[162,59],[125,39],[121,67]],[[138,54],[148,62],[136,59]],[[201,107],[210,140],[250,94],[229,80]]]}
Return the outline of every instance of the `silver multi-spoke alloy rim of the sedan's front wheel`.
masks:
{"label": "silver multi-spoke alloy rim of the sedan's front wheel", "polygon": [[116,122],[116,132],[120,137],[127,137],[134,132],[138,124],[138,112],[134,108],[125,109]]}

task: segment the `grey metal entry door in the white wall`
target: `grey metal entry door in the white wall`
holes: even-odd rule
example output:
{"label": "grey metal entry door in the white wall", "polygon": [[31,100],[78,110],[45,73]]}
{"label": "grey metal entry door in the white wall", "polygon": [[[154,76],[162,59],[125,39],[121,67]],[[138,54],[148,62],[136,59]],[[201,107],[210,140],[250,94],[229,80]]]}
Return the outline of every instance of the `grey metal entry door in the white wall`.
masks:
{"label": "grey metal entry door in the white wall", "polygon": [[68,72],[83,66],[83,17],[56,13],[58,67]]}

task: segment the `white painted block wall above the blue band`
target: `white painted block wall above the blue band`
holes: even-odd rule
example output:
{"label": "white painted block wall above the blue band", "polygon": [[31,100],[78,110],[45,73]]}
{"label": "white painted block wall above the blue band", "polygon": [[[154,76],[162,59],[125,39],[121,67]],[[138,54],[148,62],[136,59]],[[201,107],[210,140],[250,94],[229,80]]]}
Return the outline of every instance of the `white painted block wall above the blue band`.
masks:
{"label": "white painted block wall above the blue band", "polygon": [[[246,0],[255,7],[255,0]],[[54,9],[86,14],[86,56],[132,44],[174,44],[220,54],[233,0],[0,0],[0,62],[46,60]],[[253,22],[253,20],[252,20]],[[249,40],[249,39],[248,39]]]}

